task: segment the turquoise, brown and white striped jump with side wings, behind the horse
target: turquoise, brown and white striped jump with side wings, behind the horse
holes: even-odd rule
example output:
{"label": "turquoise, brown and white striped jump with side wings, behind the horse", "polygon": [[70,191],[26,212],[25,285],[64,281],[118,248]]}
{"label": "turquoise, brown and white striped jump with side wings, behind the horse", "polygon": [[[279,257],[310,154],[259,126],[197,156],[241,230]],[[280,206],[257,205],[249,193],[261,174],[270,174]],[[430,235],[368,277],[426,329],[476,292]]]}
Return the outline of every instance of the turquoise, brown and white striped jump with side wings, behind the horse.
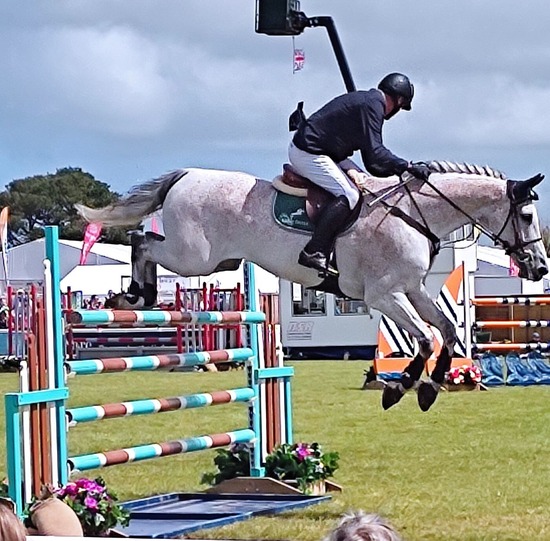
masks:
{"label": "turquoise, brown and white striped jump with side wings, behind the horse", "polygon": [[[232,443],[251,445],[251,477],[264,476],[264,459],[278,443],[292,441],[290,378],[293,369],[284,367],[275,354],[274,331],[265,325],[265,314],[257,311],[254,273],[245,273],[245,307],[235,312],[184,311],[68,311],[61,308],[58,231],[46,228],[44,288],[33,302],[27,333],[28,356],[22,362],[21,388],[5,397],[9,496],[21,513],[25,503],[46,483],[65,484],[73,472],[115,464],[189,453]],[[196,351],[142,357],[120,357],[66,361],[64,328],[71,324],[132,325],[154,323],[235,324],[248,328],[248,347]],[[264,355],[264,350],[266,354]],[[197,393],[188,396],[153,398],[130,402],[67,409],[67,375],[84,376],[131,370],[150,371],[197,366],[224,361],[245,361],[246,387]],[[205,406],[243,402],[248,405],[247,425],[219,434],[148,443],[137,447],[69,456],[71,426],[128,415],[157,414]]]}

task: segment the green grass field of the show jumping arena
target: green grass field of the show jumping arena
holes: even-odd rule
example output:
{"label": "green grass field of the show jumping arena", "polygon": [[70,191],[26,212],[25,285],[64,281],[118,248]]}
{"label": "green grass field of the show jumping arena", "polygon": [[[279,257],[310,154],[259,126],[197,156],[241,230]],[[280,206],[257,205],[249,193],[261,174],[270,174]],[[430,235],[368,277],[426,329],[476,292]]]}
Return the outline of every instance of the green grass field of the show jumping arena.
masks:
{"label": "green grass field of the show jumping arena", "polygon": [[[210,539],[321,540],[350,509],[389,518],[405,539],[550,540],[550,387],[441,394],[422,413],[411,393],[383,411],[380,391],[361,391],[363,362],[293,365],[296,441],[341,455],[329,503],[197,532]],[[71,406],[243,386],[242,372],[128,373],[71,380]],[[0,388],[15,390],[14,374]],[[246,426],[243,405],[84,424],[70,454],[167,441]],[[3,429],[4,419],[1,419]],[[2,450],[3,452],[3,450]],[[213,451],[89,472],[121,499],[202,490]],[[5,471],[5,458],[1,457]]]}

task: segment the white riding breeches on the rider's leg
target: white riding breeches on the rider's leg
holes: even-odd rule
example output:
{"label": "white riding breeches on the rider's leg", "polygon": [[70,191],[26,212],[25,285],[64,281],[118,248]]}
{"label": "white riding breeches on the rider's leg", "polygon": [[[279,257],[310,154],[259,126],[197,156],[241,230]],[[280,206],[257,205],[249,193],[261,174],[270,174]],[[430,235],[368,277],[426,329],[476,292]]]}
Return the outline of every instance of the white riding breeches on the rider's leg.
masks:
{"label": "white riding breeches on the rider's leg", "polygon": [[339,197],[346,196],[351,209],[355,208],[359,201],[359,190],[342,170],[341,165],[350,163],[344,160],[337,164],[334,160],[325,155],[310,154],[300,150],[291,141],[288,147],[288,158],[296,171],[311,180],[332,195]]}

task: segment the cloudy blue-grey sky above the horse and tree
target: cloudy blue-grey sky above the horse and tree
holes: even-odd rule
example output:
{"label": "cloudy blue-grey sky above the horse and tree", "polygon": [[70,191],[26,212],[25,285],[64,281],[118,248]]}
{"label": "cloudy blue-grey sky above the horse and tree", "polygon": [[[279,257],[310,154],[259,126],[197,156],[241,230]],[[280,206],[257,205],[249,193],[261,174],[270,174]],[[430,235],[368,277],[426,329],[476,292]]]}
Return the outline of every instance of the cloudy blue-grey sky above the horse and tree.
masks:
{"label": "cloudy blue-grey sky above the horse and tree", "polygon": [[[409,160],[550,177],[548,0],[301,0],[334,19],[357,88],[409,75],[384,125]],[[255,32],[255,0],[2,0],[0,186],[80,167],[111,189],[179,167],[272,178],[288,116],[345,92],[324,28]],[[550,178],[538,208],[550,225]]]}

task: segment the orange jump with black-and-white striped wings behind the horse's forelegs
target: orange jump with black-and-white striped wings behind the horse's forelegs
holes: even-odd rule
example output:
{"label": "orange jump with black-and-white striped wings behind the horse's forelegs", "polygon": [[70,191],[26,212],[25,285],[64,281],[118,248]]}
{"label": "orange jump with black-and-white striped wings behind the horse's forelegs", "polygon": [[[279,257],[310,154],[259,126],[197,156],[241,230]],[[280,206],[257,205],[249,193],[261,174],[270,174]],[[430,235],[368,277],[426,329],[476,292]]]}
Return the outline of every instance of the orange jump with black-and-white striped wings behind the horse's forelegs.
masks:
{"label": "orange jump with black-and-white striped wings behind the horse's forelegs", "polygon": [[[550,384],[550,295],[476,296],[473,274],[460,265],[447,278],[437,304],[457,329],[453,366],[471,364],[475,357],[485,385]],[[434,342],[437,355],[441,336],[436,330]],[[364,388],[399,379],[414,356],[414,342],[382,317],[378,352]],[[435,355],[426,363],[428,373]]]}

